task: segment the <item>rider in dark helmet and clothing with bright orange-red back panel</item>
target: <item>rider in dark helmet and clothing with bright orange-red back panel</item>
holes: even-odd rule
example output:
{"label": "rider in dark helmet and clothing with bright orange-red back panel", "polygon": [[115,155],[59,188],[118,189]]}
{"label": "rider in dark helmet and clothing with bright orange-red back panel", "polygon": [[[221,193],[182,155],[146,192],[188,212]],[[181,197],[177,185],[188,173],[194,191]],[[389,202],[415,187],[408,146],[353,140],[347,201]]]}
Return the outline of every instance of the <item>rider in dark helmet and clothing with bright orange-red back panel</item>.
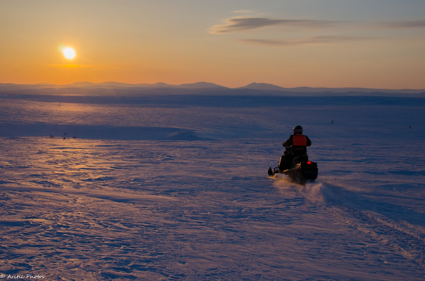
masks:
{"label": "rider in dark helmet and clothing with bright orange-red back panel", "polygon": [[309,137],[303,135],[303,127],[299,125],[295,126],[292,129],[292,132],[294,134],[291,135],[288,140],[282,143],[282,145],[286,147],[286,150],[283,152],[283,155],[279,160],[278,167],[280,171],[289,169],[289,165],[292,159],[298,155],[306,155],[308,160],[307,146],[311,146],[312,141],[309,139]]}

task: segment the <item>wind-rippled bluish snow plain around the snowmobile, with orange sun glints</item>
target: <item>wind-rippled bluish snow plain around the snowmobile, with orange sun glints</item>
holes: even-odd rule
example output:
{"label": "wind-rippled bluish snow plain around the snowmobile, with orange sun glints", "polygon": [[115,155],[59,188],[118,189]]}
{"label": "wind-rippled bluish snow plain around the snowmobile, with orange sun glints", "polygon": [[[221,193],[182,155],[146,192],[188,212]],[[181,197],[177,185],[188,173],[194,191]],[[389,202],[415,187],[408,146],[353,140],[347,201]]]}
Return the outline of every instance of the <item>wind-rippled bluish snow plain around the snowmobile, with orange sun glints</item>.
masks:
{"label": "wind-rippled bluish snow plain around the snowmobile, with orange sun glints", "polygon": [[[0,103],[3,279],[425,280],[424,98]],[[295,125],[306,186],[267,175]]]}

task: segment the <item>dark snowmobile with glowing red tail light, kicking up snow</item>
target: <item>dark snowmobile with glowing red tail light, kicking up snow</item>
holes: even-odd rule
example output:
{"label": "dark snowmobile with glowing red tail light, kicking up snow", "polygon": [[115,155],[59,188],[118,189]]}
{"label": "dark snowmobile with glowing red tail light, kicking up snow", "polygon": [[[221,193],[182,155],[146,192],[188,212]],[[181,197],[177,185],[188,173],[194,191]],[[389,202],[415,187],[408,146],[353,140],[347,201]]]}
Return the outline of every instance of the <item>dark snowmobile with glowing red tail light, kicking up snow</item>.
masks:
{"label": "dark snowmobile with glowing red tail light, kicking up snow", "polygon": [[[282,168],[282,167],[280,167]],[[288,169],[283,169],[282,171],[279,167],[276,167],[272,170],[272,166],[269,168],[269,176],[273,177],[275,174],[286,174],[292,181],[299,183],[300,185],[305,185],[307,182],[313,183],[317,179],[317,163],[309,161],[307,155],[296,155],[292,157]]]}

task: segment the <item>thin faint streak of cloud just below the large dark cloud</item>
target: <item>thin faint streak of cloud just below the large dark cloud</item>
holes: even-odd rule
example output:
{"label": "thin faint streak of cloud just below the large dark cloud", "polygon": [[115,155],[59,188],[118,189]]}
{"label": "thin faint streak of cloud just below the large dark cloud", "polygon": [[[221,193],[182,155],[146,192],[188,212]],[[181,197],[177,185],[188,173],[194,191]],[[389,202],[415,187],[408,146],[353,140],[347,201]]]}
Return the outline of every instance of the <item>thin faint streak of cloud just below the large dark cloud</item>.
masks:
{"label": "thin faint streak of cloud just below the large dark cloud", "polygon": [[371,37],[355,36],[315,36],[305,39],[284,40],[284,39],[239,39],[242,42],[267,45],[267,46],[295,46],[295,45],[314,45],[314,44],[332,44],[340,42],[350,42],[358,40],[370,40]]}

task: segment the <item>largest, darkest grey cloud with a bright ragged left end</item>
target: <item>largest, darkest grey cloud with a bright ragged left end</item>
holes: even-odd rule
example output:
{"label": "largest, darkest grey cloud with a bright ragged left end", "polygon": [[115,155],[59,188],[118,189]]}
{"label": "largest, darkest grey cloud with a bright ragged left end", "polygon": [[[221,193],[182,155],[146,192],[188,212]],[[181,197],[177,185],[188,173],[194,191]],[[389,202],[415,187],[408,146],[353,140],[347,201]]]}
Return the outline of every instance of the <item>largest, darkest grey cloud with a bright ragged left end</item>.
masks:
{"label": "largest, darkest grey cloud with a bright ragged left end", "polygon": [[284,20],[270,19],[266,17],[235,17],[227,19],[225,20],[225,22],[227,23],[213,25],[211,28],[209,28],[210,33],[224,34],[229,32],[244,31],[274,25],[311,28],[338,23],[338,21],[329,20]]}

